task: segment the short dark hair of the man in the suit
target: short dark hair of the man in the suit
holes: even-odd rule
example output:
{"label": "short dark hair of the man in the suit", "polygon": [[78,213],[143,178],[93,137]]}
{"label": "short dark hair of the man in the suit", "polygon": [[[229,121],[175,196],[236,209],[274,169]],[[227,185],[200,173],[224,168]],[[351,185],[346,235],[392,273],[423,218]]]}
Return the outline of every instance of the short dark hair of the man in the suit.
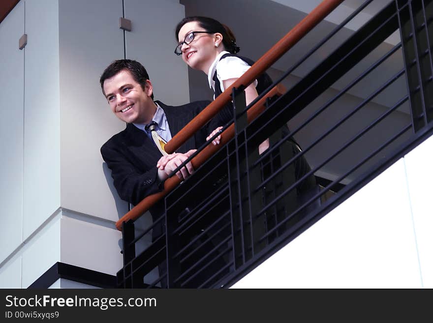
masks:
{"label": "short dark hair of the man in the suit", "polygon": [[[149,74],[146,71],[146,68],[136,60],[132,59],[118,59],[112,62],[108,67],[104,70],[99,79],[99,83],[101,84],[102,93],[104,92],[104,82],[106,79],[110,79],[121,71],[126,70],[131,73],[132,78],[135,82],[141,85],[143,88],[146,85],[146,80],[149,80]],[[152,100],[154,99],[154,93],[151,95]]]}

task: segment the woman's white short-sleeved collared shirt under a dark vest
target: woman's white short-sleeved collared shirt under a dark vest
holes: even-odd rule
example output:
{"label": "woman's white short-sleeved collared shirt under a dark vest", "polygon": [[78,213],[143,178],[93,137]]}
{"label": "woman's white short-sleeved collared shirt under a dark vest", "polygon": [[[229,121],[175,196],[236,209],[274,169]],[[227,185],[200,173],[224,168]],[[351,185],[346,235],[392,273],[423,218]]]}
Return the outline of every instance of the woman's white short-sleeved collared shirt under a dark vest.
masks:
{"label": "woman's white short-sleeved collared shirt under a dark vest", "polygon": [[[229,79],[237,79],[242,76],[251,66],[247,64],[244,60],[239,57],[229,56],[219,60],[223,55],[230,54],[227,51],[222,51],[218,54],[214,62],[209,67],[208,72],[208,82],[209,88],[214,90],[214,99],[215,99],[215,81],[214,74],[216,71],[216,78],[219,80],[219,87],[221,91],[224,91],[224,86],[222,85],[222,81]],[[216,69],[218,67],[218,69]],[[257,87],[257,80],[253,82],[254,87]]]}

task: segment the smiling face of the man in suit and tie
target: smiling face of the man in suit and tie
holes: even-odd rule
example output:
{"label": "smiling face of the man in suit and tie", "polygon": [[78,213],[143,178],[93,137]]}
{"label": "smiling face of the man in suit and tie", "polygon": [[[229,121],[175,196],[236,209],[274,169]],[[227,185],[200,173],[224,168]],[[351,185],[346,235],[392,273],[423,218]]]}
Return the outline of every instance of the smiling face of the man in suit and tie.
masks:
{"label": "smiling face of the man in suit and tie", "polygon": [[104,92],[111,111],[122,121],[142,124],[152,121],[156,106],[149,80],[143,89],[127,70],[123,70],[104,81]]}

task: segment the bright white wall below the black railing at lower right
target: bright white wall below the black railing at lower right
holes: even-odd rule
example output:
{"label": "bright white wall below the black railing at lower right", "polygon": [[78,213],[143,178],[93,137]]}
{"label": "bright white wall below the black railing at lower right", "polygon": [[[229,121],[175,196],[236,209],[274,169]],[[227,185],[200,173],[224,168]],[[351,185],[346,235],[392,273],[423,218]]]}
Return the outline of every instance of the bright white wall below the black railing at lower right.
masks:
{"label": "bright white wall below the black railing at lower right", "polygon": [[232,288],[432,288],[433,137]]}

